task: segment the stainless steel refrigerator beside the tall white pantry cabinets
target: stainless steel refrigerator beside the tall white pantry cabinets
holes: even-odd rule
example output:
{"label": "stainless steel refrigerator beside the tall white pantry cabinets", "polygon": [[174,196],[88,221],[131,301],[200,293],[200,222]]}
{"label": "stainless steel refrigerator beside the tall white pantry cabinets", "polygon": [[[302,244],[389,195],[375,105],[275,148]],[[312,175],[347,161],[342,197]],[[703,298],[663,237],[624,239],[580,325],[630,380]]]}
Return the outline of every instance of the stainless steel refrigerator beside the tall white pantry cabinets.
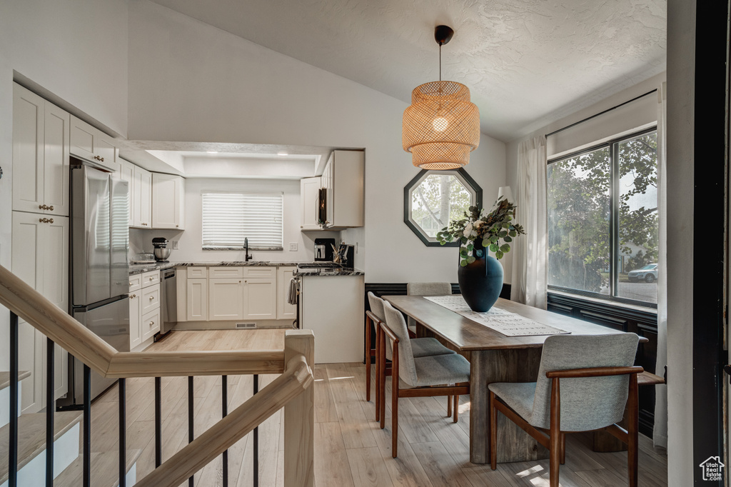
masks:
{"label": "stainless steel refrigerator beside the tall white pantry cabinets", "polygon": [[[75,159],[70,179],[72,315],[129,352],[129,184]],[[69,368],[65,402],[83,404],[83,364],[69,360]],[[92,371],[92,399],[114,381]]]}

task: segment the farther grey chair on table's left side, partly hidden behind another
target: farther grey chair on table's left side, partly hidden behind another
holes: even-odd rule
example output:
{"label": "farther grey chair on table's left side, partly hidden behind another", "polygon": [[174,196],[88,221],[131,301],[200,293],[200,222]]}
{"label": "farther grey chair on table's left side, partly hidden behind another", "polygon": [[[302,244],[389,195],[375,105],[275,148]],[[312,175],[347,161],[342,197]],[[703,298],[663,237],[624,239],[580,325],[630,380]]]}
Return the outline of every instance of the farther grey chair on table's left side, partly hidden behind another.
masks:
{"label": "farther grey chair on table's left side, partly hidden behind another", "polygon": [[[368,292],[368,303],[371,305],[370,311],[366,312],[366,337],[368,337],[366,341],[366,350],[368,350],[368,342],[370,341],[370,331],[371,331],[371,325],[368,323],[372,323],[376,327],[376,347],[374,348],[373,352],[376,356],[376,421],[380,419],[380,412],[381,412],[381,403],[383,402],[385,404],[385,398],[384,398],[384,390],[386,387],[386,376],[391,374],[390,367],[387,367],[385,365],[384,360],[384,366],[379,367],[379,360],[378,360],[378,354],[379,354],[379,347],[378,344],[379,336],[382,333],[380,323],[384,321],[384,312],[383,312],[383,304],[385,301],[383,301],[378,296],[374,295],[373,292]],[[420,339],[412,339],[412,351],[414,352],[415,357],[426,357],[428,355],[450,355],[452,353],[455,353],[454,350],[450,350],[447,347],[444,347],[437,339],[433,338],[420,338]],[[386,355],[387,360],[391,360],[392,353],[391,353],[391,347],[390,344],[387,344],[387,347],[384,350],[384,353]],[[370,357],[367,357],[370,358]],[[366,360],[366,401],[371,400],[371,364],[369,363],[370,360]],[[451,399],[451,398],[450,398]],[[447,416],[452,415],[452,401],[447,401],[449,404],[447,405]]]}

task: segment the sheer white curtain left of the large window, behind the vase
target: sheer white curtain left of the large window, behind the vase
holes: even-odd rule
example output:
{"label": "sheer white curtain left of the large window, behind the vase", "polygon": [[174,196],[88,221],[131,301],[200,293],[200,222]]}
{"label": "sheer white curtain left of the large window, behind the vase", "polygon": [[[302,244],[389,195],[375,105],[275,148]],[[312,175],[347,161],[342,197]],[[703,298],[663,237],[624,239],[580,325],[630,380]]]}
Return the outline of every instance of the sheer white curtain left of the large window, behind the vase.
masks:
{"label": "sheer white curtain left of the large window, behind the vase", "polygon": [[546,229],[546,137],[523,140],[518,146],[515,221],[526,235],[513,241],[512,301],[546,309],[548,232]]}

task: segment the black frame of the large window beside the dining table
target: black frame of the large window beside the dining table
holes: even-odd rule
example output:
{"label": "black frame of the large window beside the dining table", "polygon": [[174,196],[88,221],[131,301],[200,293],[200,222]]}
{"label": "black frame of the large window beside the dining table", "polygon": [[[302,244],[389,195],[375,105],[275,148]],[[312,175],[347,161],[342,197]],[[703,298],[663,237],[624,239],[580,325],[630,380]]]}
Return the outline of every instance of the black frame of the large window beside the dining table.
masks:
{"label": "black frame of the large window beside the dining table", "polygon": [[[561,287],[561,286],[554,286],[553,284],[547,284],[548,291],[556,291],[556,292],[563,292],[570,295],[577,295],[577,296],[583,296],[586,298],[595,298],[602,301],[607,301],[607,303],[617,303],[617,304],[628,304],[632,306],[641,306],[643,308],[651,308],[651,309],[657,309],[657,303],[650,303],[648,301],[638,301],[636,299],[629,299],[629,298],[622,298],[620,296],[613,295],[616,292],[615,289],[615,283],[618,282],[618,270],[616,265],[616,255],[617,255],[617,249],[619,246],[619,240],[617,235],[618,230],[618,224],[619,224],[619,199],[617,197],[619,192],[619,178],[618,178],[618,171],[619,171],[619,165],[618,165],[618,154],[617,151],[613,150],[613,146],[616,143],[623,142],[624,140],[630,140],[634,139],[636,137],[642,137],[643,135],[647,135],[652,132],[657,132],[657,125],[655,124],[652,127],[648,127],[645,129],[637,130],[637,132],[630,132],[626,133],[624,135],[613,137],[610,140],[605,140],[602,143],[596,144],[594,146],[586,147],[581,149],[580,151],[570,152],[568,154],[561,154],[561,156],[554,156],[551,159],[548,159],[548,162],[546,164],[546,167],[553,164],[554,162],[561,162],[565,161],[567,159],[572,159],[573,157],[580,156],[582,154],[588,154],[589,152],[597,151],[602,148],[608,148],[611,158],[611,189],[610,189],[610,195],[609,195],[609,205],[610,205],[610,227],[609,227],[609,260],[610,260],[610,266],[609,266],[609,279],[610,279],[610,294],[604,295],[599,294],[599,292],[592,292],[592,291],[586,291],[586,290],[577,290],[572,289],[570,287]],[[547,181],[548,185],[548,181]],[[547,230],[548,233],[548,230]],[[548,237],[548,235],[547,235]],[[548,253],[548,249],[546,249]],[[548,260],[546,261],[546,264],[548,265]],[[667,272],[667,271],[666,271]]]}

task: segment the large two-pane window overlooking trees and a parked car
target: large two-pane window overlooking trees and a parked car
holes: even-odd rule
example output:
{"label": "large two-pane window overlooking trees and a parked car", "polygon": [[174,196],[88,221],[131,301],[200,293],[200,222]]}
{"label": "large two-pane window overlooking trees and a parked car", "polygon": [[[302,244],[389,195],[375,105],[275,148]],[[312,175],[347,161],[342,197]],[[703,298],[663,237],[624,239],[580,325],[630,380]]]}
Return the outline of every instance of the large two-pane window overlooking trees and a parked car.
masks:
{"label": "large two-pane window overlooking trees and a parked car", "polygon": [[657,132],[548,165],[548,285],[657,303]]}

